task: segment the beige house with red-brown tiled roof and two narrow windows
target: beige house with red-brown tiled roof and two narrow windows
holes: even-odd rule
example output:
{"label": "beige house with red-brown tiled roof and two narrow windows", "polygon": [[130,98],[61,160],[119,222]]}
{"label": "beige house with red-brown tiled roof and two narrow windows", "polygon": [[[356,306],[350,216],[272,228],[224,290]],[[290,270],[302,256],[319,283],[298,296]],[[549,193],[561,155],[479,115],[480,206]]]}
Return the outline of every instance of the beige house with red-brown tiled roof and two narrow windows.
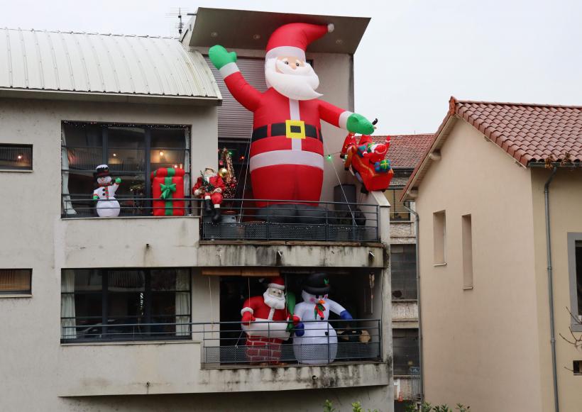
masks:
{"label": "beige house with red-brown tiled roof and two narrow windows", "polygon": [[582,330],[580,160],[580,106],[451,98],[403,195],[419,213],[427,401],[580,410],[582,352],[560,337]]}

